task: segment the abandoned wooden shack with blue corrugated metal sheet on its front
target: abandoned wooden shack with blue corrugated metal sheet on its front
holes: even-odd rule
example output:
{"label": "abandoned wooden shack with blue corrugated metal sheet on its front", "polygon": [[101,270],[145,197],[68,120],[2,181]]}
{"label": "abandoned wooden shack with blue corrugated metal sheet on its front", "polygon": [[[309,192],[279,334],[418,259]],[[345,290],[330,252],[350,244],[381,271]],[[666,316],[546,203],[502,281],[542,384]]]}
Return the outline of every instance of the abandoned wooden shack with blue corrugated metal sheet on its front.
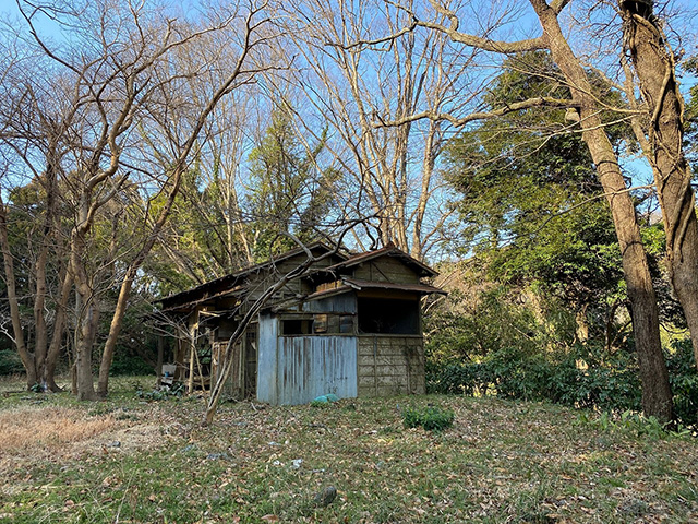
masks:
{"label": "abandoned wooden shack with blue corrugated metal sheet on its front", "polygon": [[[322,242],[301,277],[270,298],[234,347],[229,396],[270,404],[424,393],[422,282],[436,273],[387,246],[350,255]],[[294,249],[161,300],[178,329],[174,380],[209,388],[240,319],[279,275],[308,260]]]}

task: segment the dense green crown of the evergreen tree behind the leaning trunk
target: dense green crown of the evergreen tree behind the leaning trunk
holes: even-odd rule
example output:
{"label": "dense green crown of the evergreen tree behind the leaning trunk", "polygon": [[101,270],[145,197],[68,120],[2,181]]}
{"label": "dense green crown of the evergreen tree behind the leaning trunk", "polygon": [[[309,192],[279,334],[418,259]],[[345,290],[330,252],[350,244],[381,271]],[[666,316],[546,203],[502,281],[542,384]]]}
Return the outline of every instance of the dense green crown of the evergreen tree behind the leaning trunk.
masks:
{"label": "dense green crown of the evergreen tree behind the leaning trunk", "polygon": [[[615,96],[598,87],[600,96]],[[508,58],[485,103],[496,108],[535,96],[569,98],[545,52]],[[460,193],[461,249],[478,257],[486,277],[535,281],[582,308],[617,294],[621,253],[588,148],[568,126],[564,109],[512,112],[453,140],[446,164]],[[627,133],[623,126],[609,131],[616,142]]]}

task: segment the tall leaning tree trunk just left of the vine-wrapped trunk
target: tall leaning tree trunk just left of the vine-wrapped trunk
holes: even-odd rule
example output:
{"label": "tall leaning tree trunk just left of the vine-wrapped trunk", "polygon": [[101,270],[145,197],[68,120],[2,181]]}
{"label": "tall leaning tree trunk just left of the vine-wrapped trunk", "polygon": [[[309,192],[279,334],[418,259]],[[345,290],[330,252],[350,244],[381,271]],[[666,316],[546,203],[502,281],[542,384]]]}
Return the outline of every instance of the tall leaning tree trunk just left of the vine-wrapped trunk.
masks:
{"label": "tall leaning tree trunk just left of the vine-wrapped trunk", "polygon": [[635,204],[627,192],[617,156],[599,117],[599,107],[592,96],[593,87],[561,31],[558,13],[543,0],[530,2],[539,16],[553,59],[569,83],[573,100],[580,114],[582,140],[589,147],[611,206],[630,300],[642,382],[642,409],[646,415],[655,416],[662,421],[672,420],[673,400],[659,335],[657,297],[635,214]]}

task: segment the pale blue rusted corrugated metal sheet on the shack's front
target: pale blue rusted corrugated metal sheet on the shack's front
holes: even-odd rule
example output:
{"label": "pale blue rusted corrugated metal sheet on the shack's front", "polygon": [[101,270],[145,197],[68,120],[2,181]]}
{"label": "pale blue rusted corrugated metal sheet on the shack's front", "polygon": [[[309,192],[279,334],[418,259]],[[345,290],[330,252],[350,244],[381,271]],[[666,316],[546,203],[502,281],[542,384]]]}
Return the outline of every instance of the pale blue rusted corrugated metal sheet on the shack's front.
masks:
{"label": "pale blue rusted corrugated metal sheet on the shack's front", "polygon": [[281,336],[278,341],[273,404],[304,404],[327,393],[357,396],[354,336]]}

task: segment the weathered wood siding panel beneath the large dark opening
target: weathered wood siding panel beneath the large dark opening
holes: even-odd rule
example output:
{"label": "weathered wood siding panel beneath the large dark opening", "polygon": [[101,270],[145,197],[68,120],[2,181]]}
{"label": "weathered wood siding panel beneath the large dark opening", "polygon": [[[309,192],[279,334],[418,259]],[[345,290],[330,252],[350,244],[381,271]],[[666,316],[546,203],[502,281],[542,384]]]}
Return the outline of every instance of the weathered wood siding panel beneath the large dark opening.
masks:
{"label": "weathered wood siding panel beneath the large dark opening", "polygon": [[424,394],[421,336],[360,335],[358,396]]}

